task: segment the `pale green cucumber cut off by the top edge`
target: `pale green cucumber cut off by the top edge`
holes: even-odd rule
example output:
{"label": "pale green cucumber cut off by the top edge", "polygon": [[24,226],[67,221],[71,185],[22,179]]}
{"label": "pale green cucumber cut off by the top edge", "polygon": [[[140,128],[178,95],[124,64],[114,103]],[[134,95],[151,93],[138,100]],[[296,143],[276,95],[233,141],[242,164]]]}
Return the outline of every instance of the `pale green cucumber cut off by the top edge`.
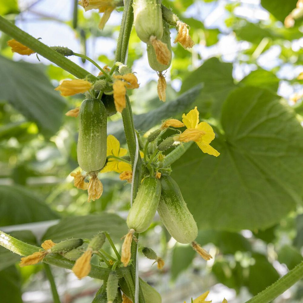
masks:
{"label": "pale green cucumber cut off by the top edge", "polygon": [[163,35],[161,0],[134,0],[134,25],[140,40],[149,43],[151,36]]}

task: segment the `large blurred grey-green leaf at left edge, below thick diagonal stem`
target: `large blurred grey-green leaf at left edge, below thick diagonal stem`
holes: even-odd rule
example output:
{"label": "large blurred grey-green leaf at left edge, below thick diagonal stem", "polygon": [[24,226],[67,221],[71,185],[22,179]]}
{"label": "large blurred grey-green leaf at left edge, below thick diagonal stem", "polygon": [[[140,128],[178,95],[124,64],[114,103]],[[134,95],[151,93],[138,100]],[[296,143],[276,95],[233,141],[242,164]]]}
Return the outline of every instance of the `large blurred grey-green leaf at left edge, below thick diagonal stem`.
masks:
{"label": "large blurred grey-green leaf at left edge, below thick diagonal stem", "polygon": [[14,62],[0,56],[0,99],[8,100],[40,131],[53,135],[65,112],[65,101],[45,76],[42,65]]}

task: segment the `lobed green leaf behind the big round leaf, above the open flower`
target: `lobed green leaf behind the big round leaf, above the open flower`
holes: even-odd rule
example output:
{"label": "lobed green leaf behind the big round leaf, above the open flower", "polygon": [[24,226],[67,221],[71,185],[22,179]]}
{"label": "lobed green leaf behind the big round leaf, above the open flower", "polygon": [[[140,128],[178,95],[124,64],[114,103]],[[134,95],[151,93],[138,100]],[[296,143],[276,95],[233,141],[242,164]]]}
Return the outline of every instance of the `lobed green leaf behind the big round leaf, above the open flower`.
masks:
{"label": "lobed green leaf behind the big round leaf, above the open flower", "polygon": [[218,58],[208,59],[185,78],[180,92],[186,92],[198,84],[203,85],[199,98],[196,98],[195,102],[198,110],[201,113],[211,112],[212,115],[218,117],[226,97],[236,88],[232,77],[232,64],[220,62]]}

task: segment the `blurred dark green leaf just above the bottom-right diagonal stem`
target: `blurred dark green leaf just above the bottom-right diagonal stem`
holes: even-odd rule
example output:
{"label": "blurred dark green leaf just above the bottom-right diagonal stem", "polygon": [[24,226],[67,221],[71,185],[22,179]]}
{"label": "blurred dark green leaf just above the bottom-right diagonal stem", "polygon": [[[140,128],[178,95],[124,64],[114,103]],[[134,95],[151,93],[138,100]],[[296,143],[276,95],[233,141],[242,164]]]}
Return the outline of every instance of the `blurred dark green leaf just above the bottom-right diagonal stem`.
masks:
{"label": "blurred dark green leaf just above the bottom-right diagonal stem", "polygon": [[255,264],[249,267],[247,286],[253,295],[257,295],[277,281],[280,276],[271,263],[268,262],[265,255],[254,253],[252,257],[255,259]]}

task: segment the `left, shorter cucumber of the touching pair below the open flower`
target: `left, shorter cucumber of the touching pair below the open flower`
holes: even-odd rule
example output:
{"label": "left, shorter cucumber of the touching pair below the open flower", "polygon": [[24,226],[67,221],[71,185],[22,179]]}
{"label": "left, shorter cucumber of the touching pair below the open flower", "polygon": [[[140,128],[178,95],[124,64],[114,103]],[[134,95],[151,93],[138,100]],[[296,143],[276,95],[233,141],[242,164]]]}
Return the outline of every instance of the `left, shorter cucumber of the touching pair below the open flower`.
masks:
{"label": "left, shorter cucumber of the touching pair below the open flower", "polygon": [[161,184],[155,177],[145,178],[141,185],[135,201],[127,216],[128,228],[135,229],[140,233],[145,231],[155,216],[161,195]]}

